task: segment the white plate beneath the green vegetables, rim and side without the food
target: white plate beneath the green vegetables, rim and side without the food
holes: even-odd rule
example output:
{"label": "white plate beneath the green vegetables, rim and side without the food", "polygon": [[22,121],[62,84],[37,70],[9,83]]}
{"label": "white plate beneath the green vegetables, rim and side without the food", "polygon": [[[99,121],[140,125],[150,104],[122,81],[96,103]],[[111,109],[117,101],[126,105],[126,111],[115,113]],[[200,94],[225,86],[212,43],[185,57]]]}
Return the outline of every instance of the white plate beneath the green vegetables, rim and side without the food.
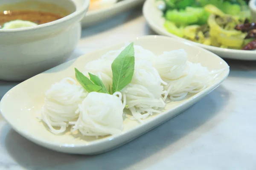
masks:
{"label": "white plate beneath the green vegetables, rim and side without the food", "polygon": [[[186,42],[193,43],[199,47],[205,48],[222,58],[229,59],[241,59],[241,60],[256,60],[256,51],[245,51],[245,50],[233,50],[227,48],[219,48],[210,45],[204,45],[196,42],[180,38],[174,34],[169,33],[163,26],[165,19],[162,17],[163,13],[155,6],[156,0],[146,0],[143,6],[143,15],[148,23],[148,25],[157,34],[165,35],[169,37],[174,37]],[[255,2],[255,0],[252,0]],[[252,2],[251,2],[252,3]]]}

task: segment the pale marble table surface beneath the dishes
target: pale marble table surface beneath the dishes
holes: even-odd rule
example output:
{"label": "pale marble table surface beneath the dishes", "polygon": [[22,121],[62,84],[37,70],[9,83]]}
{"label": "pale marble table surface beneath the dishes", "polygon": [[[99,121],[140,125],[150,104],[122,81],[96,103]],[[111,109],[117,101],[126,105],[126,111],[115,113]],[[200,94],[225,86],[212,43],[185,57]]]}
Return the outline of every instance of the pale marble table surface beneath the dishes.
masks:
{"label": "pale marble table surface beneath the dishes", "polygon": [[[155,34],[141,7],[86,28],[70,58]],[[229,77],[200,102],[108,153],[56,153],[17,134],[0,117],[0,170],[256,170],[256,62],[227,60]],[[18,82],[0,82],[0,99]]]}

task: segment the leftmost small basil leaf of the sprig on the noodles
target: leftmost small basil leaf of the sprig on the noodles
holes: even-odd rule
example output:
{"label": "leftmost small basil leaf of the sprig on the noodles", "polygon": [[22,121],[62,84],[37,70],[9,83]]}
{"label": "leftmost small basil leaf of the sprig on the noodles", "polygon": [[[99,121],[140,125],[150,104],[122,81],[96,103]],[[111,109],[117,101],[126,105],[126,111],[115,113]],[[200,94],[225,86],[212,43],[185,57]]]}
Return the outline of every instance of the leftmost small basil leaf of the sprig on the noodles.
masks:
{"label": "leftmost small basil leaf of the sprig on the noodles", "polygon": [[76,79],[80,83],[80,85],[88,92],[96,91],[101,92],[102,87],[95,85],[88,77],[84,76],[78,69],[75,68]]}

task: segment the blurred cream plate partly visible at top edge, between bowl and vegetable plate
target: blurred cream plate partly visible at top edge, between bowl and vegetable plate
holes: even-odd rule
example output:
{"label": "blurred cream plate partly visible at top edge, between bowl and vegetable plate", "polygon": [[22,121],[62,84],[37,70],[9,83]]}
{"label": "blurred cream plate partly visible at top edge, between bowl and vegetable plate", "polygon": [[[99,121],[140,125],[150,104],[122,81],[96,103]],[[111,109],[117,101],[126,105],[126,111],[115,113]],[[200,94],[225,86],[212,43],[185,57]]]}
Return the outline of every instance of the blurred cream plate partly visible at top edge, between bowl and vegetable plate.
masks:
{"label": "blurred cream plate partly visible at top edge, between bowl and vegetable plate", "polygon": [[110,17],[125,12],[145,0],[91,0],[88,12],[81,20],[83,27],[91,26]]}

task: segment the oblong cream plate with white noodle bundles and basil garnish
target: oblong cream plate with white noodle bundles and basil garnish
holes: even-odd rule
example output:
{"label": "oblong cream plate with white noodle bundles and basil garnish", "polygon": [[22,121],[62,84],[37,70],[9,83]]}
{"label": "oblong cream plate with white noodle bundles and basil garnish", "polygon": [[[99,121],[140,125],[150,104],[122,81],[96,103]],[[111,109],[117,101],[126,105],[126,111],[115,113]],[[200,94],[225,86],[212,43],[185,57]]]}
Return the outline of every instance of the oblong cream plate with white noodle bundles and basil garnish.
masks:
{"label": "oblong cream plate with white noodle bundles and basil garnish", "polygon": [[43,147],[103,153],[186,110],[228,74],[227,63],[203,48],[137,37],[20,83],[3,96],[0,111],[17,133]]}

